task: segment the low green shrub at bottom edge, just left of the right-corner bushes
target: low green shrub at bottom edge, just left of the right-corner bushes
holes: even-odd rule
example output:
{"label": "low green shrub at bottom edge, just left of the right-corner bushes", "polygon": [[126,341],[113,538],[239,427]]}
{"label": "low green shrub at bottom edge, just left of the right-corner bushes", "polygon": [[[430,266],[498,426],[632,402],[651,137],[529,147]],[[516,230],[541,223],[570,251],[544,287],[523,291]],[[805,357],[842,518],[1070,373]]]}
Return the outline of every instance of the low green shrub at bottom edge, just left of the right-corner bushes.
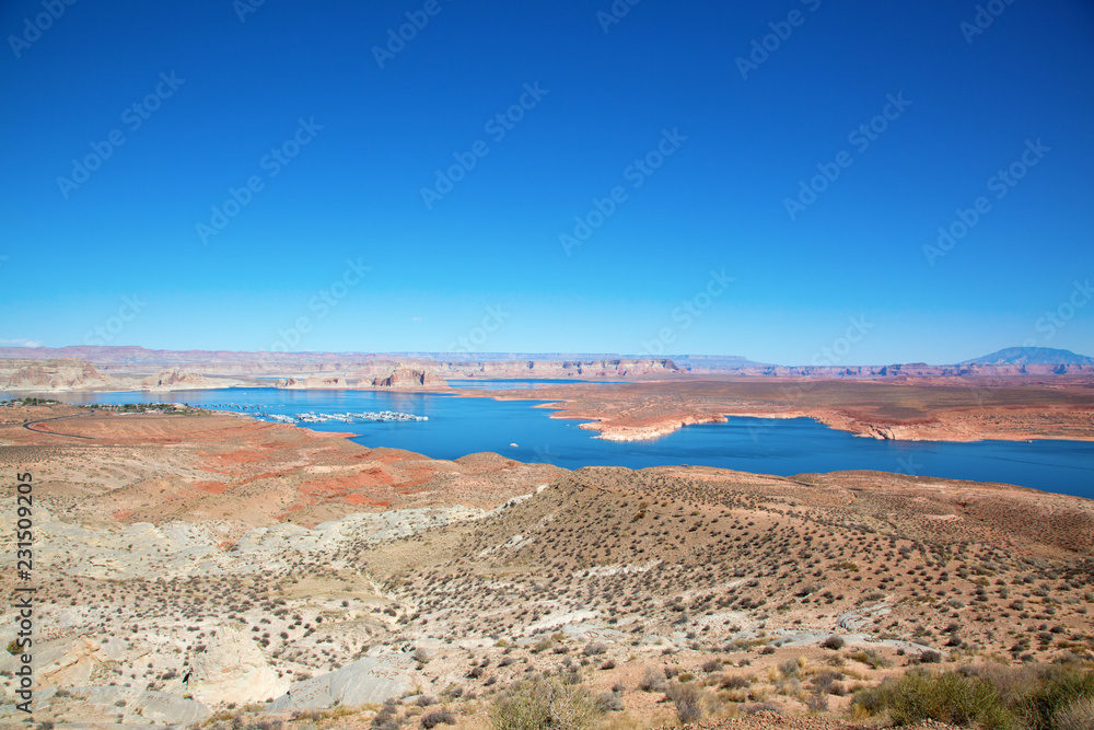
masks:
{"label": "low green shrub at bottom edge, just left of the right-corner bushes", "polygon": [[991,682],[961,672],[935,674],[912,670],[856,694],[853,703],[869,714],[887,710],[897,725],[938,720],[957,726],[977,723],[986,730],[1015,727]]}

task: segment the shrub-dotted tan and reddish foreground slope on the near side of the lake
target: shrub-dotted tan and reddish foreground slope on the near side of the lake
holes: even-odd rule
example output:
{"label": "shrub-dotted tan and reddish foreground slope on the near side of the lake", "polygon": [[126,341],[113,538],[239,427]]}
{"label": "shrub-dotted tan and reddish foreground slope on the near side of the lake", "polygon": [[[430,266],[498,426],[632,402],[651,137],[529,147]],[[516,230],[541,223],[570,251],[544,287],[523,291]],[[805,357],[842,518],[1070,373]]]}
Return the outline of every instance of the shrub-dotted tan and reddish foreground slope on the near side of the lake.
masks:
{"label": "shrub-dotted tan and reddish foreground slope on the near side of the lake", "polygon": [[478,728],[527,687],[609,728],[876,727],[920,668],[998,684],[1094,658],[1075,497],[437,461],[181,406],[9,403],[0,461],[33,475],[34,717],[55,727]]}

